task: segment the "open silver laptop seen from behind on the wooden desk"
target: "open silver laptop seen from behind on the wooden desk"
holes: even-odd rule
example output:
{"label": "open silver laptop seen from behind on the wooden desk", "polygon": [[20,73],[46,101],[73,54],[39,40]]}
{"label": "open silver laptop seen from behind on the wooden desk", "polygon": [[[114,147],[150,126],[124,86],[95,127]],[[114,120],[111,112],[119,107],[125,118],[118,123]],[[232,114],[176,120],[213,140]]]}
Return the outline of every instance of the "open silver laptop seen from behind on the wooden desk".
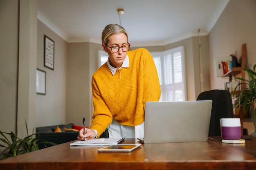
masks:
{"label": "open silver laptop seen from behind on the wooden desk", "polygon": [[207,141],[212,100],[146,102],[144,144]]}

